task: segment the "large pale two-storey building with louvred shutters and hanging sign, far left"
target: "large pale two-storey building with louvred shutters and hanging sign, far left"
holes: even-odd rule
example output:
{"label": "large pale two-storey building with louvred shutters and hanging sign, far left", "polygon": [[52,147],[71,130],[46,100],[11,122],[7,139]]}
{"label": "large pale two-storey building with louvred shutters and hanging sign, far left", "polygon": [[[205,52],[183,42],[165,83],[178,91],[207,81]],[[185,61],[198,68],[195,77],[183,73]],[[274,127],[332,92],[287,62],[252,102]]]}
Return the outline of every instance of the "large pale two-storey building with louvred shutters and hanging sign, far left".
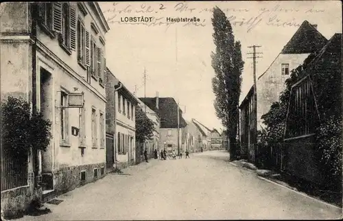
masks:
{"label": "large pale two-storey building with louvred shutters and hanging sign, far left", "polygon": [[[6,3],[4,7],[1,19],[8,22],[1,23],[5,26],[1,32],[6,32],[1,41],[7,38],[8,43],[1,44],[1,55],[10,59],[12,71],[25,72],[20,78],[29,78],[23,82],[12,75],[13,85],[5,88],[16,90],[15,82],[22,82],[33,110],[52,122],[47,151],[33,156],[37,158],[34,176],[44,200],[47,194],[62,194],[105,173],[104,67],[109,27],[93,2]],[[10,43],[14,38],[26,41]],[[1,69],[1,82],[5,72]]]}

